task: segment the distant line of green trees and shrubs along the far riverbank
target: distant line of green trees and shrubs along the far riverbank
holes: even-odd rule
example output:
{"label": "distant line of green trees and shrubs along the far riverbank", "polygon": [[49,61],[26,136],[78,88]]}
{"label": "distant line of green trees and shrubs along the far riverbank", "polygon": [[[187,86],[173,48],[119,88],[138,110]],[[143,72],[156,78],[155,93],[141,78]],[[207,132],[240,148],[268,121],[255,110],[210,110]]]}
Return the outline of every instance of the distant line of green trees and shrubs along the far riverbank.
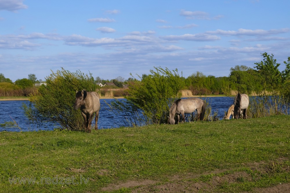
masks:
{"label": "distant line of green trees and shrubs along the far riverbank", "polygon": [[[255,67],[247,67],[244,65],[236,65],[231,67],[229,76],[215,77],[205,76],[202,72],[196,71],[189,77],[181,76],[184,82],[182,89],[188,89],[193,95],[231,95],[231,91],[239,91],[247,94],[257,94],[262,91],[274,92],[280,90],[283,95],[288,95],[289,88],[289,63],[290,57],[284,61],[286,65],[285,70],[279,71],[279,63],[274,59],[273,54],[266,52],[261,54],[263,60],[255,63]],[[91,77],[91,81],[96,83],[114,82],[114,84],[123,88],[124,84],[134,84],[141,79],[144,80],[148,76],[143,74],[134,78],[133,76],[125,80],[119,76],[112,80],[102,79],[99,76]],[[45,81],[37,80],[35,74],[29,74],[28,78],[17,79],[14,83],[5,78],[3,73],[0,73],[0,96],[28,96],[33,91],[37,90],[34,87],[35,83],[42,83]],[[157,83],[158,84],[158,83]],[[100,89],[100,87],[97,86]],[[279,92],[280,92],[279,91]]]}

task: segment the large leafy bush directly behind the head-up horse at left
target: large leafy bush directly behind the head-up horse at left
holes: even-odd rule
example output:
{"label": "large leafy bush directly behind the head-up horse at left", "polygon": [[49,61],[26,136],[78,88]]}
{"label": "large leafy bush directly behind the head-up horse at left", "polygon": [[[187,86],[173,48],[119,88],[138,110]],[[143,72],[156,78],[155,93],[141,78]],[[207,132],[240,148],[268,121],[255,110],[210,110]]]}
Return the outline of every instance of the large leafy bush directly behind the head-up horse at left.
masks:
{"label": "large leafy bush directly behind the head-up horse at left", "polygon": [[64,129],[81,130],[83,118],[79,109],[73,109],[73,104],[76,91],[96,90],[91,74],[85,75],[80,71],[73,73],[62,68],[46,77],[46,84],[30,95],[33,106],[23,106],[29,120],[57,122]]}

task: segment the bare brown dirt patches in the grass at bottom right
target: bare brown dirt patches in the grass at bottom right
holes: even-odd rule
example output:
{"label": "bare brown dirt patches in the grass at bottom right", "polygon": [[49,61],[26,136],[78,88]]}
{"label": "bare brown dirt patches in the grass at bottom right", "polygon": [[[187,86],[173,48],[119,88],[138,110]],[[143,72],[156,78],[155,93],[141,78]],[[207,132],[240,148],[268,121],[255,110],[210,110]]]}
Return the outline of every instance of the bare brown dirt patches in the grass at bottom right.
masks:
{"label": "bare brown dirt patches in the grass at bottom right", "polygon": [[[286,158],[286,160],[288,160]],[[269,172],[275,172],[276,166],[281,166],[281,170],[289,172],[289,168],[283,167],[284,158],[278,159],[273,163],[249,163],[247,167],[251,170],[257,170],[261,174],[266,174]],[[280,165],[279,165],[280,164]],[[202,180],[202,177],[212,175],[209,180]],[[169,192],[184,192],[184,193],[195,193],[195,192],[216,192],[216,187],[220,187],[222,184],[231,184],[231,183],[244,183],[251,182],[253,178],[251,174],[245,171],[227,171],[227,170],[215,170],[204,172],[203,174],[193,174],[193,173],[184,173],[168,177],[168,181],[161,180],[142,180],[142,181],[127,181],[120,182],[118,184],[110,184],[105,188],[102,188],[101,191],[113,191],[119,190],[120,188],[131,188],[132,193],[143,193],[143,192],[160,192],[160,193],[169,193]],[[290,183],[273,185],[268,188],[255,188],[250,192],[260,193],[260,192],[269,192],[269,193],[288,193],[290,192]],[[243,192],[243,193],[250,193]]]}

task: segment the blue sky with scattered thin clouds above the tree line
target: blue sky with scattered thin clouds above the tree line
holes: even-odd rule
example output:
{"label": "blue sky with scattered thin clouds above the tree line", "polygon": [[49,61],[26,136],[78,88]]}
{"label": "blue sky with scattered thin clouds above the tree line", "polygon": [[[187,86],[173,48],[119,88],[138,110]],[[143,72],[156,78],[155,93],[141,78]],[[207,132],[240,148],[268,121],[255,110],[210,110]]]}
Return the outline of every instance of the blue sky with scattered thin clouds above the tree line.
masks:
{"label": "blue sky with scattered thin clouds above the tree line", "polygon": [[[63,67],[128,79],[154,67],[229,76],[261,53],[290,56],[290,1],[0,0],[0,73],[45,80]],[[137,76],[135,76],[137,77]]]}

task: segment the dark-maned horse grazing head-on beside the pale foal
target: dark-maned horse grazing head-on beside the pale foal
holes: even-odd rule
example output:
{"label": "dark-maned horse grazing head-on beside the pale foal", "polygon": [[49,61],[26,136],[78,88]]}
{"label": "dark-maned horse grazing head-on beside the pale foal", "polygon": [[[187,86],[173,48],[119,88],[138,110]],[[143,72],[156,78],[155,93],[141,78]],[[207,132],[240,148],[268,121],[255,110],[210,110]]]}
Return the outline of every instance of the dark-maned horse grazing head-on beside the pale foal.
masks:
{"label": "dark-maned horse grazing head-on beside the pale foal", "polygon": [[247,119],[247,109],[249,106],[249,96],[238,93],[234,99],[234,118],[238,119],[241,114]]}

